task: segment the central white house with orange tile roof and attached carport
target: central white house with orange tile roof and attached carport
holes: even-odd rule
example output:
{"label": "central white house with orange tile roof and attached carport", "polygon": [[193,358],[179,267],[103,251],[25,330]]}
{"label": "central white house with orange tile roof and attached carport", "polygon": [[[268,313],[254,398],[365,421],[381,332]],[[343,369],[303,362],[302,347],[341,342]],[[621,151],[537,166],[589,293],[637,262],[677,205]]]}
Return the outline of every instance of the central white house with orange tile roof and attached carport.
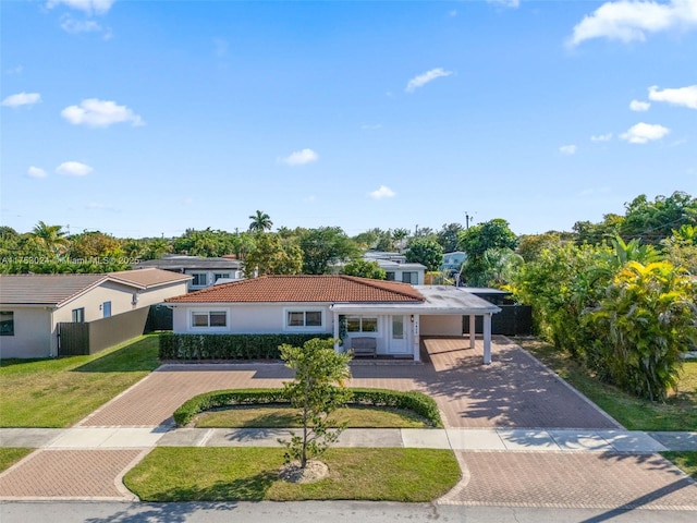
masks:
{"label": "central white house with orange tile roof and attached carport", "polygon": [[470,321],[481,316],[486,363],[491,361],[491,315],[499,312],[454,287],[329,275],[266,276],[171,297],[166,304],[173,308],[175,333],[316,332],[343,338],[344,350],[353,338],[367,337],[375,338],[379,355],[415,361],[420,336],[462,336],[463,316]]}

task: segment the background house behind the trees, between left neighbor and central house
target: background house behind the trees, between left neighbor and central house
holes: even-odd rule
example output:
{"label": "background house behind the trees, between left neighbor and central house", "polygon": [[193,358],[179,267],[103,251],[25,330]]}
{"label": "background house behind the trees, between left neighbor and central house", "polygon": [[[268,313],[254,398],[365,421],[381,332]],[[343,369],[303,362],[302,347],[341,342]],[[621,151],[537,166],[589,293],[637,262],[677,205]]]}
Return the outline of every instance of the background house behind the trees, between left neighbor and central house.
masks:
{"label": "background house behind the trees, between left neighbor and central house", "polygon": [[148,259],[135,264],[136,269],[157,268],[189,275],[189,291],[206,289],[218,280],[236,281],[244,279],[243,264],[234,258],[200,258],[198,256],[166,255],[160,259]]}

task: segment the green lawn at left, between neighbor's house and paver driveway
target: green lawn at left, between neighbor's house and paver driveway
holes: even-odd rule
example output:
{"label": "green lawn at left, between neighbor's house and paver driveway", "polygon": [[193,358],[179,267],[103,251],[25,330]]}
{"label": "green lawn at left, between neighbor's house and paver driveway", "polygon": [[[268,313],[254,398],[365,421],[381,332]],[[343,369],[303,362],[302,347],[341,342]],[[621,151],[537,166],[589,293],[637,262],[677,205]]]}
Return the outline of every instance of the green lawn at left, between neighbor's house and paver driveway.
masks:
{"label": "green lawn at left, between neighbor's house and paver driveway", "polygon": [[66,427],[159,365],[157,335],[90,356],[0,361],[0,427]]}

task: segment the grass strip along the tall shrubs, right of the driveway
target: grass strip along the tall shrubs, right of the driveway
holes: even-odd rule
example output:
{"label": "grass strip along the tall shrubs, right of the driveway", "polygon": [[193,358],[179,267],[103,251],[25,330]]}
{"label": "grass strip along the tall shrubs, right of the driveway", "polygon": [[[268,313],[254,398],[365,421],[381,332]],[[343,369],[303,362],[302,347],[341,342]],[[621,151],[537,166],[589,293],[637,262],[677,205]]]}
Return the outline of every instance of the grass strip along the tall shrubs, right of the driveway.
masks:
{"label": "grass strip along the tall shrubs, right of the driveway", "polygon": [[629,430],[697,430],[697,361],[683,365],[677,390],[664,402],[634,398],[603,384],[550,343],[516,339],[516,343],[588,397]]}

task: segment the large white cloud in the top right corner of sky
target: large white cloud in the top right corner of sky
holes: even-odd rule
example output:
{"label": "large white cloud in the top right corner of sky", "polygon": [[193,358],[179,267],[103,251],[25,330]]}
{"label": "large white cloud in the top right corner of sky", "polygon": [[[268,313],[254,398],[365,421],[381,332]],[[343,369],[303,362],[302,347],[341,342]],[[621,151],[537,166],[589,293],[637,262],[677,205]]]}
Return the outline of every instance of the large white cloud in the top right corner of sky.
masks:
{"label": "large white cloud in the top right corner of sky", "polygon": [[624,42],[646,40],[649,33],[697,27],[695,0],[655,1],[620,0],[606,2],[574,27],[567,44],[577,46],[592,38]]}

